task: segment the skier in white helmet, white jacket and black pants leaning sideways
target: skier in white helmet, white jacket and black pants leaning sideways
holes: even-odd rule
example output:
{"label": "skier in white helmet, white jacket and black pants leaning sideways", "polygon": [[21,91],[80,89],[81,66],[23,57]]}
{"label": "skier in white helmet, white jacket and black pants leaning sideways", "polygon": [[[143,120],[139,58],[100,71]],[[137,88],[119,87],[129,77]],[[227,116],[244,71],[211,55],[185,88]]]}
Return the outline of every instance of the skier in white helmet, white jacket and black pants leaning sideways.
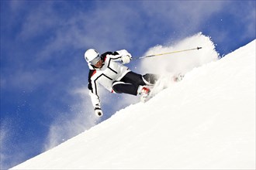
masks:
{"label": "skier in white helmet, white jacket and black pants leaning sideways", "polygon": [[[147,73],[144,76],[134,73],[123,64],[130,63],[132,56],[122,49],[116,52],[106,52],[100,55],[95,49],[85,52],[88,63],[88,89],[98,117],[103,115],[99,100],[99,84],[112,93],[140,94],[147,97],[150,93],[148,86],[154,85],[157,75]],[[122,63],[119,63],[122,62]]]}

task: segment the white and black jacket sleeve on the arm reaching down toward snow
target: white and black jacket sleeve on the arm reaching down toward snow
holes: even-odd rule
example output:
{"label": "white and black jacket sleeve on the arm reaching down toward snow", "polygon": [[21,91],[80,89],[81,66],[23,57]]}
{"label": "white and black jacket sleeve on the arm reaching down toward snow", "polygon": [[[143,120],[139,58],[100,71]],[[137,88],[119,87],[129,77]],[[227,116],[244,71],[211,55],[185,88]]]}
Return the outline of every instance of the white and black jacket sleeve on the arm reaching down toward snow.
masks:
{"label": "white and black jacket sleeve on the arm reaching down toward snow", "polygon": [[99,100],[99,95],[97,92],[97,83],[92,82],[91,77],[95,70],[90,70],[89,75],[88,75],[88,89],[90,90],[89,95],[92,100],[92,106],[94,108],[100,108],[100,100]]}

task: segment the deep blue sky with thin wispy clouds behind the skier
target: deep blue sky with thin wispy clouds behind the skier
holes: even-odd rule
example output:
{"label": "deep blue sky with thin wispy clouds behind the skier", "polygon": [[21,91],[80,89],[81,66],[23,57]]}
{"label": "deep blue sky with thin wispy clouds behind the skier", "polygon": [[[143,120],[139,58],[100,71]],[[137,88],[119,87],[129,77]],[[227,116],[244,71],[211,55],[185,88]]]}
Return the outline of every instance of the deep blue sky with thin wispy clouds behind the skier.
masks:
{"label": "deep blue sky with thin wispy clouds behind the skier", "polygon": [[83,93],[86,49],[127,49],[142,56],[152,46],[202,32],[223,56],[255,39],[255,3],[1,1],[1,168],[24,162],[124,107],[103,105],[105,116],[95,119]]}

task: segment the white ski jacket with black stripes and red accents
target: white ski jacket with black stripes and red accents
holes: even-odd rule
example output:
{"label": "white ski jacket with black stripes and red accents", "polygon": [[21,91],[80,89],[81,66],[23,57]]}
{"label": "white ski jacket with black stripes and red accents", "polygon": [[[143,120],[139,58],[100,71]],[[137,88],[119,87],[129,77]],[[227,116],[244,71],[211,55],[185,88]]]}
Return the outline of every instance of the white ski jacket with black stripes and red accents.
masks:
{"label": "white ski jacket with black stripes and red accents", "polygon": [[99,84],[105,87],[112,93],[112,83],[116,80],[121,80],[126,73],[130,72],[130,69],[123,64],[118,63],[122,61],[122,56],[129,54],[125,49],[112,52],[106,52],[102,54],[104,65],[102,68],[94,68],[88,63],[89,75],[88,75],[88,89],[90,90],[90,96],[92,99],[93,107],[100,108],[99,100]]}

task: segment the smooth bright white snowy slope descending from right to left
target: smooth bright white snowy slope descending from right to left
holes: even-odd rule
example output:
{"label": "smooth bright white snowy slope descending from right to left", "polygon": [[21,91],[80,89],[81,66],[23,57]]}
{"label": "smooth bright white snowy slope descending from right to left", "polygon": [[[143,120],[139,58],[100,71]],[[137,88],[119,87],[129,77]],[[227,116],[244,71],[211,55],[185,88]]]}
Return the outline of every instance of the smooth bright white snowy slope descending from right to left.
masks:
{"label": "smooth bright white snowy slope descending from right to left", "polygon": [[13,169],[255,168],[255,44]]}

